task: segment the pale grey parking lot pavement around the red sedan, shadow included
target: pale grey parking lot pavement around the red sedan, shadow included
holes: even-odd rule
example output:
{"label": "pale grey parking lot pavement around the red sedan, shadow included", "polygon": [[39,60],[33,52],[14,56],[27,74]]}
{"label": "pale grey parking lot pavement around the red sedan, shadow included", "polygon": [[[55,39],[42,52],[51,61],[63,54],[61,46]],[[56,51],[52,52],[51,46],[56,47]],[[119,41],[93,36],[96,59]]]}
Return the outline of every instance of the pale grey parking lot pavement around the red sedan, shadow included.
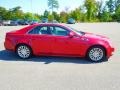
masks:
{"label": "pale grey parking lot pavement around the red sedan, shadow included", "polygon": [[120,23],[69,26],[109,37],[114,55],[101,63],[48,56],[22,60],[3,44],[6,32],[24,26],[0,26],[0,90],[120,90]]}

